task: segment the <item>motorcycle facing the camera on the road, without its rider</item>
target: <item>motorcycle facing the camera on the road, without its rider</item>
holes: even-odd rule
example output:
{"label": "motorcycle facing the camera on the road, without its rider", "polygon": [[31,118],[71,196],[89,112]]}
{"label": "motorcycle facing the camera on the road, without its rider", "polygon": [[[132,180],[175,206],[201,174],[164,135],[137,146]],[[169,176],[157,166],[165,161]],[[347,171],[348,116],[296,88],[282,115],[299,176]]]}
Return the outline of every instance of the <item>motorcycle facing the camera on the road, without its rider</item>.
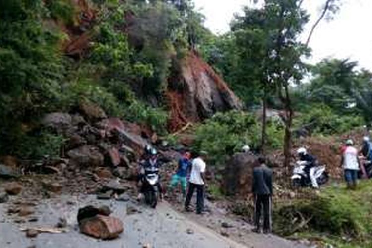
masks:
{"label": "motorcycle facing the camera on the road, without its rider", "polygon": [[156,208],[159,198],[159,169],[152,168],[142,168],[142,186],[141,191],[144,195],[145,203]]}

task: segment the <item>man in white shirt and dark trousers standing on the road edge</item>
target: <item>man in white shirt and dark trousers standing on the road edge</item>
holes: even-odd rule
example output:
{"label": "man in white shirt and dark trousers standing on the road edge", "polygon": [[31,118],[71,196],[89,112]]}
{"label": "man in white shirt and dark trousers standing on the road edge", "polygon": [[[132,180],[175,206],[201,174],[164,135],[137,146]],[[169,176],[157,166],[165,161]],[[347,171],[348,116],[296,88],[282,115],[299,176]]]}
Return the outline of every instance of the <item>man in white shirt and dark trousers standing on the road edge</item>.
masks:
{"label": "man in white shirt and dark trousers standing on the road edge", "polygon": [[189,205],[196,188],[196,213],[202,214],[204,210],[204,173],[205,173],[205,162],[204,159],[207,153],[202,151],[200,155],[192,161],[190,180],[188,185],[188,192],[185,201],[185,210],[189,211]]}

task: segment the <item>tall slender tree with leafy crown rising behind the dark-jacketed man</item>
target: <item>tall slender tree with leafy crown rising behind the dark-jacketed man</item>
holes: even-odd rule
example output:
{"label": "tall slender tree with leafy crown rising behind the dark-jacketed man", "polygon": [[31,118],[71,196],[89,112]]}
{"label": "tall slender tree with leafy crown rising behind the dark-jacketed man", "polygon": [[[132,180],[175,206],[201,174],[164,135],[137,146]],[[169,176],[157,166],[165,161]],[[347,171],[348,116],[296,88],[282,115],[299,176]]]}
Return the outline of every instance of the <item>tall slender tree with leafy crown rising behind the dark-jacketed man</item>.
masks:
{"label": "tall slender tree with leafy crown rising behind the dark-jacketed man", "polygon": [[[258,2],[258,1],[255,1]],[[290,163],[291,151],[291,128],[293,120],[293,108],[289,88],[292,84],[299,84],[306,71],[302,57],[310,54],[308,47],[310,38],[319,22],[327,17],[329,11],[337,10],[337,0],[325,0],[323,11],[313,24],[306,43],[300,41],[299,36],[304,26],[309,21],[309,15],[302,9],[303,0],[265,0],[263,7],[259,9],[246,8],[244,16],[237,17],[233,24],[234,29],[242,29],[250,33],[262,34],[261,49],[252,45],[254,39],[247,38],[248,46],[252,51],[259,51],[256,71],[261,74],[263,115],[265,115],[268,88],[275,88],[285,110],[285,136],[284,155],[285,166]],[[257,37],[257,36],[254,36]],[[249,43],[251,42],[251,43]],[[249,50],[249,48],[248,48]],[[256,55],[256,54],[255,54]],[[248,55],[248,61],[254,61],[253,55]],[[264,118],[263,118],[264,119]],[[262,145],[265,143],[265,125],[262,125]]]}

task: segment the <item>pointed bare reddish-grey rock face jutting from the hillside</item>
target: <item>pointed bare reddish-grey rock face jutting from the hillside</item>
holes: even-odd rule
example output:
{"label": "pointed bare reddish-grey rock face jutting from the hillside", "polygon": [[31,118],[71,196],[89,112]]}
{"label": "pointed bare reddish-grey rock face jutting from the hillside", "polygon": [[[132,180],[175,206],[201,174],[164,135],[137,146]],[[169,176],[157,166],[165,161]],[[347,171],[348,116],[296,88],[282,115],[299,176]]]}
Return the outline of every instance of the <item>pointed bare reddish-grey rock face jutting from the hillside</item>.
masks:
{"label": "pointed bare reddish-grey rock face jutting from the hillside", "polygon": [[242,108],[227,84],[195,52],[181,62],[179,77],[182,89],[171,85],[174,89],[168,92],[172,130],[211,117],[217,111]]}

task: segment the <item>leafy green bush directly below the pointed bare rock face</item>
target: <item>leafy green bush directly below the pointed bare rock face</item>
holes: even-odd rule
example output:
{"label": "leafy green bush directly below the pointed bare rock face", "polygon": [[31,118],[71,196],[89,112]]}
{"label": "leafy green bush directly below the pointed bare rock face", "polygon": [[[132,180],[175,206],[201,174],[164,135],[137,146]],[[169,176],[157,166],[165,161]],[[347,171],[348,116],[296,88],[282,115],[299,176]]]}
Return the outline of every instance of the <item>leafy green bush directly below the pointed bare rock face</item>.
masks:
{"label": "leafy green bush directly below the pointed bare rock face", "polygon": [[[268,130],[268,146],[278,148],[282,144],[282,128],[269,123]],[[221,165],[245,144],[258,148],[260,134],[260,126],[252,114],[239,111],[217,113],[197,127],[193,148],[207,151],[211,163]]]}

